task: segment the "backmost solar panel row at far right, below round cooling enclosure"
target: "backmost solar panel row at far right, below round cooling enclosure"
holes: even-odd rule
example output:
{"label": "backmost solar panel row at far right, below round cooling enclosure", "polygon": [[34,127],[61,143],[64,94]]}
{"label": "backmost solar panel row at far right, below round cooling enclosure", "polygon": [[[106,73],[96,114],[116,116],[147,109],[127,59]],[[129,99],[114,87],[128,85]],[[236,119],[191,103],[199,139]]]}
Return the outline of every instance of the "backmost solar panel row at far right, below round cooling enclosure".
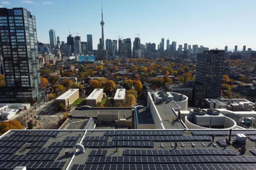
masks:
{"label": "backmost solar panel row at far right, below round cooling enclosure", "polygon": [[[256,131],[232,131],[231,135],[235,136],[236,134],[244,134],[244,135],[256,135]],[[229,135],[229,131],[191,131],[193,135],[216,135],[216,136],[227,136]]]}

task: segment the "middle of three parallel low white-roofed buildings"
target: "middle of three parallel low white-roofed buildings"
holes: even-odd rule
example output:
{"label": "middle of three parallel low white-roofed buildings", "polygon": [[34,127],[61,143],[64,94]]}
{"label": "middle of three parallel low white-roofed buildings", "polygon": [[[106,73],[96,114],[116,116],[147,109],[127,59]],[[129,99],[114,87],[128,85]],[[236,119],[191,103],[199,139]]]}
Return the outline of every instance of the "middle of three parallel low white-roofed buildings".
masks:
{"label": "middle of three parallel low white-roofed buildings", "polygon": [[96,107],[96,104],[98,102],[101,102],[102,98],[103,98],[103,88],[96,88],[86,98],[86,105],[91,107]]}

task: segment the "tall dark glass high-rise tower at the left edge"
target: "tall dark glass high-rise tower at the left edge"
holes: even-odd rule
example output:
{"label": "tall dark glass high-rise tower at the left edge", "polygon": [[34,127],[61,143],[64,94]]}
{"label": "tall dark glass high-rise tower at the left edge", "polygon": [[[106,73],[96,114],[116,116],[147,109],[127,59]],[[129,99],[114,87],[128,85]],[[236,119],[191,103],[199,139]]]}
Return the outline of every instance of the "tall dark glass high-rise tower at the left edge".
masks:
{"label": "tall dark glass high-rise tower at the left edge", "polygon": [[25,8],[0,8],[0,31],[6,82],[0,101],[42,104],[35,16]]}

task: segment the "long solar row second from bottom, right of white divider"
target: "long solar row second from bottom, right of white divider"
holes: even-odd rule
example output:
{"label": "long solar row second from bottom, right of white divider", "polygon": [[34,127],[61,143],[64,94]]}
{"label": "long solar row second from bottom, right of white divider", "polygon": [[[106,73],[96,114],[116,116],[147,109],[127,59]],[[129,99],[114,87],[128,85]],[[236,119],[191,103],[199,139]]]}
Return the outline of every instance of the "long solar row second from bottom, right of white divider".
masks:
{"label": "long solar row second from bottom, right of white divider", "polygon": [[104,163],[256,163],[255,156],[95,156],[88,157],[88,164]]}

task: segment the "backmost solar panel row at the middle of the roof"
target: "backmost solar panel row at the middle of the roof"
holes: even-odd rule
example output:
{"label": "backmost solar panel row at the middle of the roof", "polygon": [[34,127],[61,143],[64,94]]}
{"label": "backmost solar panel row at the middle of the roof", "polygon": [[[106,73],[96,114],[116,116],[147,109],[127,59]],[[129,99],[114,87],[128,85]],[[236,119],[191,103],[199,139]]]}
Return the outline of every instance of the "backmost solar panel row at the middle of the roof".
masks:
{"label": "backmost solar panel row at the middle of the roof", "polygon": [[176,136],[183,135],[182,131],[106,131],[105,136]]}

